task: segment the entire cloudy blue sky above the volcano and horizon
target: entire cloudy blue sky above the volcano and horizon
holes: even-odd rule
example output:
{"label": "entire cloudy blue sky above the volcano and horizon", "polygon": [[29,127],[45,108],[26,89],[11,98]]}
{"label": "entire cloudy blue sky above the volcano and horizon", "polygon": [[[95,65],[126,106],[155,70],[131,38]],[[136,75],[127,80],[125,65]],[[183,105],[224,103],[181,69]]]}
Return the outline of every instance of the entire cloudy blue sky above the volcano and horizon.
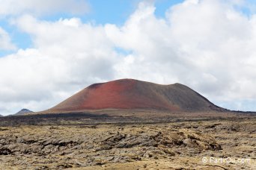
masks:
{"label": "entire cloudy blue sky above the volcano and horizon", "polygon": [[180,83],[256,111],[252,0],[0,0],[0,114],[55,106],[90,84]]}

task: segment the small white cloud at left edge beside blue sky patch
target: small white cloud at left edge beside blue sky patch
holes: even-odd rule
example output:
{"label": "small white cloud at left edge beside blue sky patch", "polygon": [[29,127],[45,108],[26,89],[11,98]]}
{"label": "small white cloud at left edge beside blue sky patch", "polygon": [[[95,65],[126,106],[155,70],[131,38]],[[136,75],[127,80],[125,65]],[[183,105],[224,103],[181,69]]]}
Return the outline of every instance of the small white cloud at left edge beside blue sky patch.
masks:
{"label": "small white cloud at left edge beside blue sky patch", "polygon": [[10,40],[9,34],[0,27],[0,50],[14,50],[16,46]]}

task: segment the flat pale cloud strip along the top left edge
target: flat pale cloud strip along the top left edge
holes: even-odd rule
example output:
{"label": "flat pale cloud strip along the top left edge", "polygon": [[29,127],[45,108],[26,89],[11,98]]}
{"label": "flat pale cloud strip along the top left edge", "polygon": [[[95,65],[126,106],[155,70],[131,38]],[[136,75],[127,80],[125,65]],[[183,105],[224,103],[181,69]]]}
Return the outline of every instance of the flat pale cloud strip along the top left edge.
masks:
{"label": "flat pale cloud strip along the top left edge", "polygon": [[0,0],[0,15],[20,15],[33,13],[49,15],[51,13],[87,13],[89,10],[86,1],[82,0]]}

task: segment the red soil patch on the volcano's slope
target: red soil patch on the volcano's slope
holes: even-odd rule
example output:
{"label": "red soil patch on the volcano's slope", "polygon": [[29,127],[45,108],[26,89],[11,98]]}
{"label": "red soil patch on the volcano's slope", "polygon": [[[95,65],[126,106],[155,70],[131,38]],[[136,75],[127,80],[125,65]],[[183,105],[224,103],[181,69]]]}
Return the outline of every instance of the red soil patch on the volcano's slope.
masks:
{"label": "red soil patch on the volcano's slope", "polygon": [[107,84],[94,84],[88,87],[88,95],[80,108],[154,108],[177,110],[157,95],[150,95],[138,89],[137,81],[112,81]]}

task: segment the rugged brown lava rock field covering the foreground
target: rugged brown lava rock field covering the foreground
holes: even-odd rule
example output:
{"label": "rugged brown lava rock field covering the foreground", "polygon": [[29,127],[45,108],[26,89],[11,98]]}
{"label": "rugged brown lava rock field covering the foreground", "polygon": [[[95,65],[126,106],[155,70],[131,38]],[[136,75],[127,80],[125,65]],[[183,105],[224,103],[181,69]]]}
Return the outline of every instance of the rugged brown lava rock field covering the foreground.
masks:
{"label": "rugged brown lava rock field covering the foreground", "polygon": [[[0,169],[256,169],[255,121],[249,116],[162,123],[2,124]],[[244,158],[250,163],[203,163],[203,157]]]}

